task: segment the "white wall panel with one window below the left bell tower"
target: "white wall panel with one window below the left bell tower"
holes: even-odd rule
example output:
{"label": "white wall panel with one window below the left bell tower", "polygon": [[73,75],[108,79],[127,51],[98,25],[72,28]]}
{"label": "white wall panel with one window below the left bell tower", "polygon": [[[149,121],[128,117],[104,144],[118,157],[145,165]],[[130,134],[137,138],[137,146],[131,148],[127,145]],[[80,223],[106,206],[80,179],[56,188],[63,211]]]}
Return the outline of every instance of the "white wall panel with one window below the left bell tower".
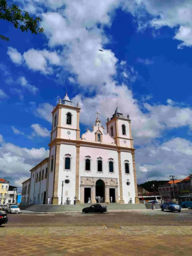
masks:
{"label": "white wall panel with one window below the left bell tower", "polygon": [[[65,154],[71,155],[71,171],[64,171],[64,156]],[[68,176],[68,177],[66,177]],[[58,197],[59,204],[61,204],[62,194],[62,180],[68,178],[69,183],[64,182],[63,186],[63,204],[66,202],[66,197],[70,197],[71,204],[74,203],[75,196],[75,181],[76,181],[76,146],[75,145],[60,145],[60,162],[59,162],[59,182],[58,182]]]}

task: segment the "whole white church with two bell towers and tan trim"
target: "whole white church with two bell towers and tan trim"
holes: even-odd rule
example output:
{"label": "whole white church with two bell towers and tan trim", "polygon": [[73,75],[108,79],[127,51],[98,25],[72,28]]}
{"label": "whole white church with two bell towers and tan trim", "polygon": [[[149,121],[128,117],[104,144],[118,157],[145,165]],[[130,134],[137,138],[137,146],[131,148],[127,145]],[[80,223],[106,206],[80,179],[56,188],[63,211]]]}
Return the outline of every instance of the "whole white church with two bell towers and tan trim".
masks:
{"label": "whole white church with two bell towers and tan trim", "polygon": [[[66,96],[52,111],[49,157],[30,170],[30,181],[23,182],[27,204],[139,203],[131,120],[118,107],[107,119],[107,132],[98,114],[92,131],[79,129],[79,104]],[[63,184],[63,186],[62,186]],[[27,187],[28,186],[28,187]],[[28,193],[28,194],[27,194]]]}

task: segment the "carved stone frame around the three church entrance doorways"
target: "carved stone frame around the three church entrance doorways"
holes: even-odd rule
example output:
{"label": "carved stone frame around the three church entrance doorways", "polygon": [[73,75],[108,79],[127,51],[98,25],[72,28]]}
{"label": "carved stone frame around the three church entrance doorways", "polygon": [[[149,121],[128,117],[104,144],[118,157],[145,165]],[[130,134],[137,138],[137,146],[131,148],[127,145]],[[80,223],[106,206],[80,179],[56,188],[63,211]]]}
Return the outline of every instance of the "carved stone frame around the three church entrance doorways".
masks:
{"label": "carved stone frame around the three church entrance doorways", "polygon": [[115,188],[116,203],[119,203],[118,178],[99,178],[99,177],[84,177],[81,176],[81,198],[80,204],[84,204],[84,188],[91,188],[91,203],[96,203],[95,187],[97,180],[102,180],[105,184],[105,202],[110,203],[109,188]]}

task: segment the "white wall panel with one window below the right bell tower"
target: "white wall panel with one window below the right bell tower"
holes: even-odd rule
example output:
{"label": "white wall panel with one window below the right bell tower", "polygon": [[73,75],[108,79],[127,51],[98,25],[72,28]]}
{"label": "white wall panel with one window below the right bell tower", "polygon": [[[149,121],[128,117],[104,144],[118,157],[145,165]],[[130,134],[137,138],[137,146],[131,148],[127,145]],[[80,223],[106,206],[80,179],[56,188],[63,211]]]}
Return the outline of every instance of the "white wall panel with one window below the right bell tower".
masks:
{"label": "white wall panel with one window below the right bell tower", "polygon": [[[130,163],[130,175],[125,174],[124,161],[128,160]],[[134,175],[133,175],[133,163],[132,154],[129,152],[121,152],[121,171],[122,171],[122,188],[123,188],[123,199],[125,204],[127,204],[132,198],[132,203],[135,203],[135,185],[134,185]],[[129,180],[130,185],[127,186],[127,180]],[[129,196],[130,193],[130,196]]]}

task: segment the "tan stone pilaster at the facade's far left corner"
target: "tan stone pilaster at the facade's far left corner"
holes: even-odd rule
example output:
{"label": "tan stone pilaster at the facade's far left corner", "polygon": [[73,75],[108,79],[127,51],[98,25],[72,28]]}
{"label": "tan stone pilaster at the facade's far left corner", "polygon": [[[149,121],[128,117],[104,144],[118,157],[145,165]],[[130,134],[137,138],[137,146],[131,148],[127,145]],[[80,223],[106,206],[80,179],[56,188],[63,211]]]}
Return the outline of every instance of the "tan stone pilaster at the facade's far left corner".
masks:
{"label": "tan stone pilaster at the facade's far left corner", "polygon": [[55,168],[53,178],[53,196],[51,199],[52,204],[59,204],[58,198],[58,182],[59,182],[59,157],[60,157],[60,143],[56,144],[55,150]]}

